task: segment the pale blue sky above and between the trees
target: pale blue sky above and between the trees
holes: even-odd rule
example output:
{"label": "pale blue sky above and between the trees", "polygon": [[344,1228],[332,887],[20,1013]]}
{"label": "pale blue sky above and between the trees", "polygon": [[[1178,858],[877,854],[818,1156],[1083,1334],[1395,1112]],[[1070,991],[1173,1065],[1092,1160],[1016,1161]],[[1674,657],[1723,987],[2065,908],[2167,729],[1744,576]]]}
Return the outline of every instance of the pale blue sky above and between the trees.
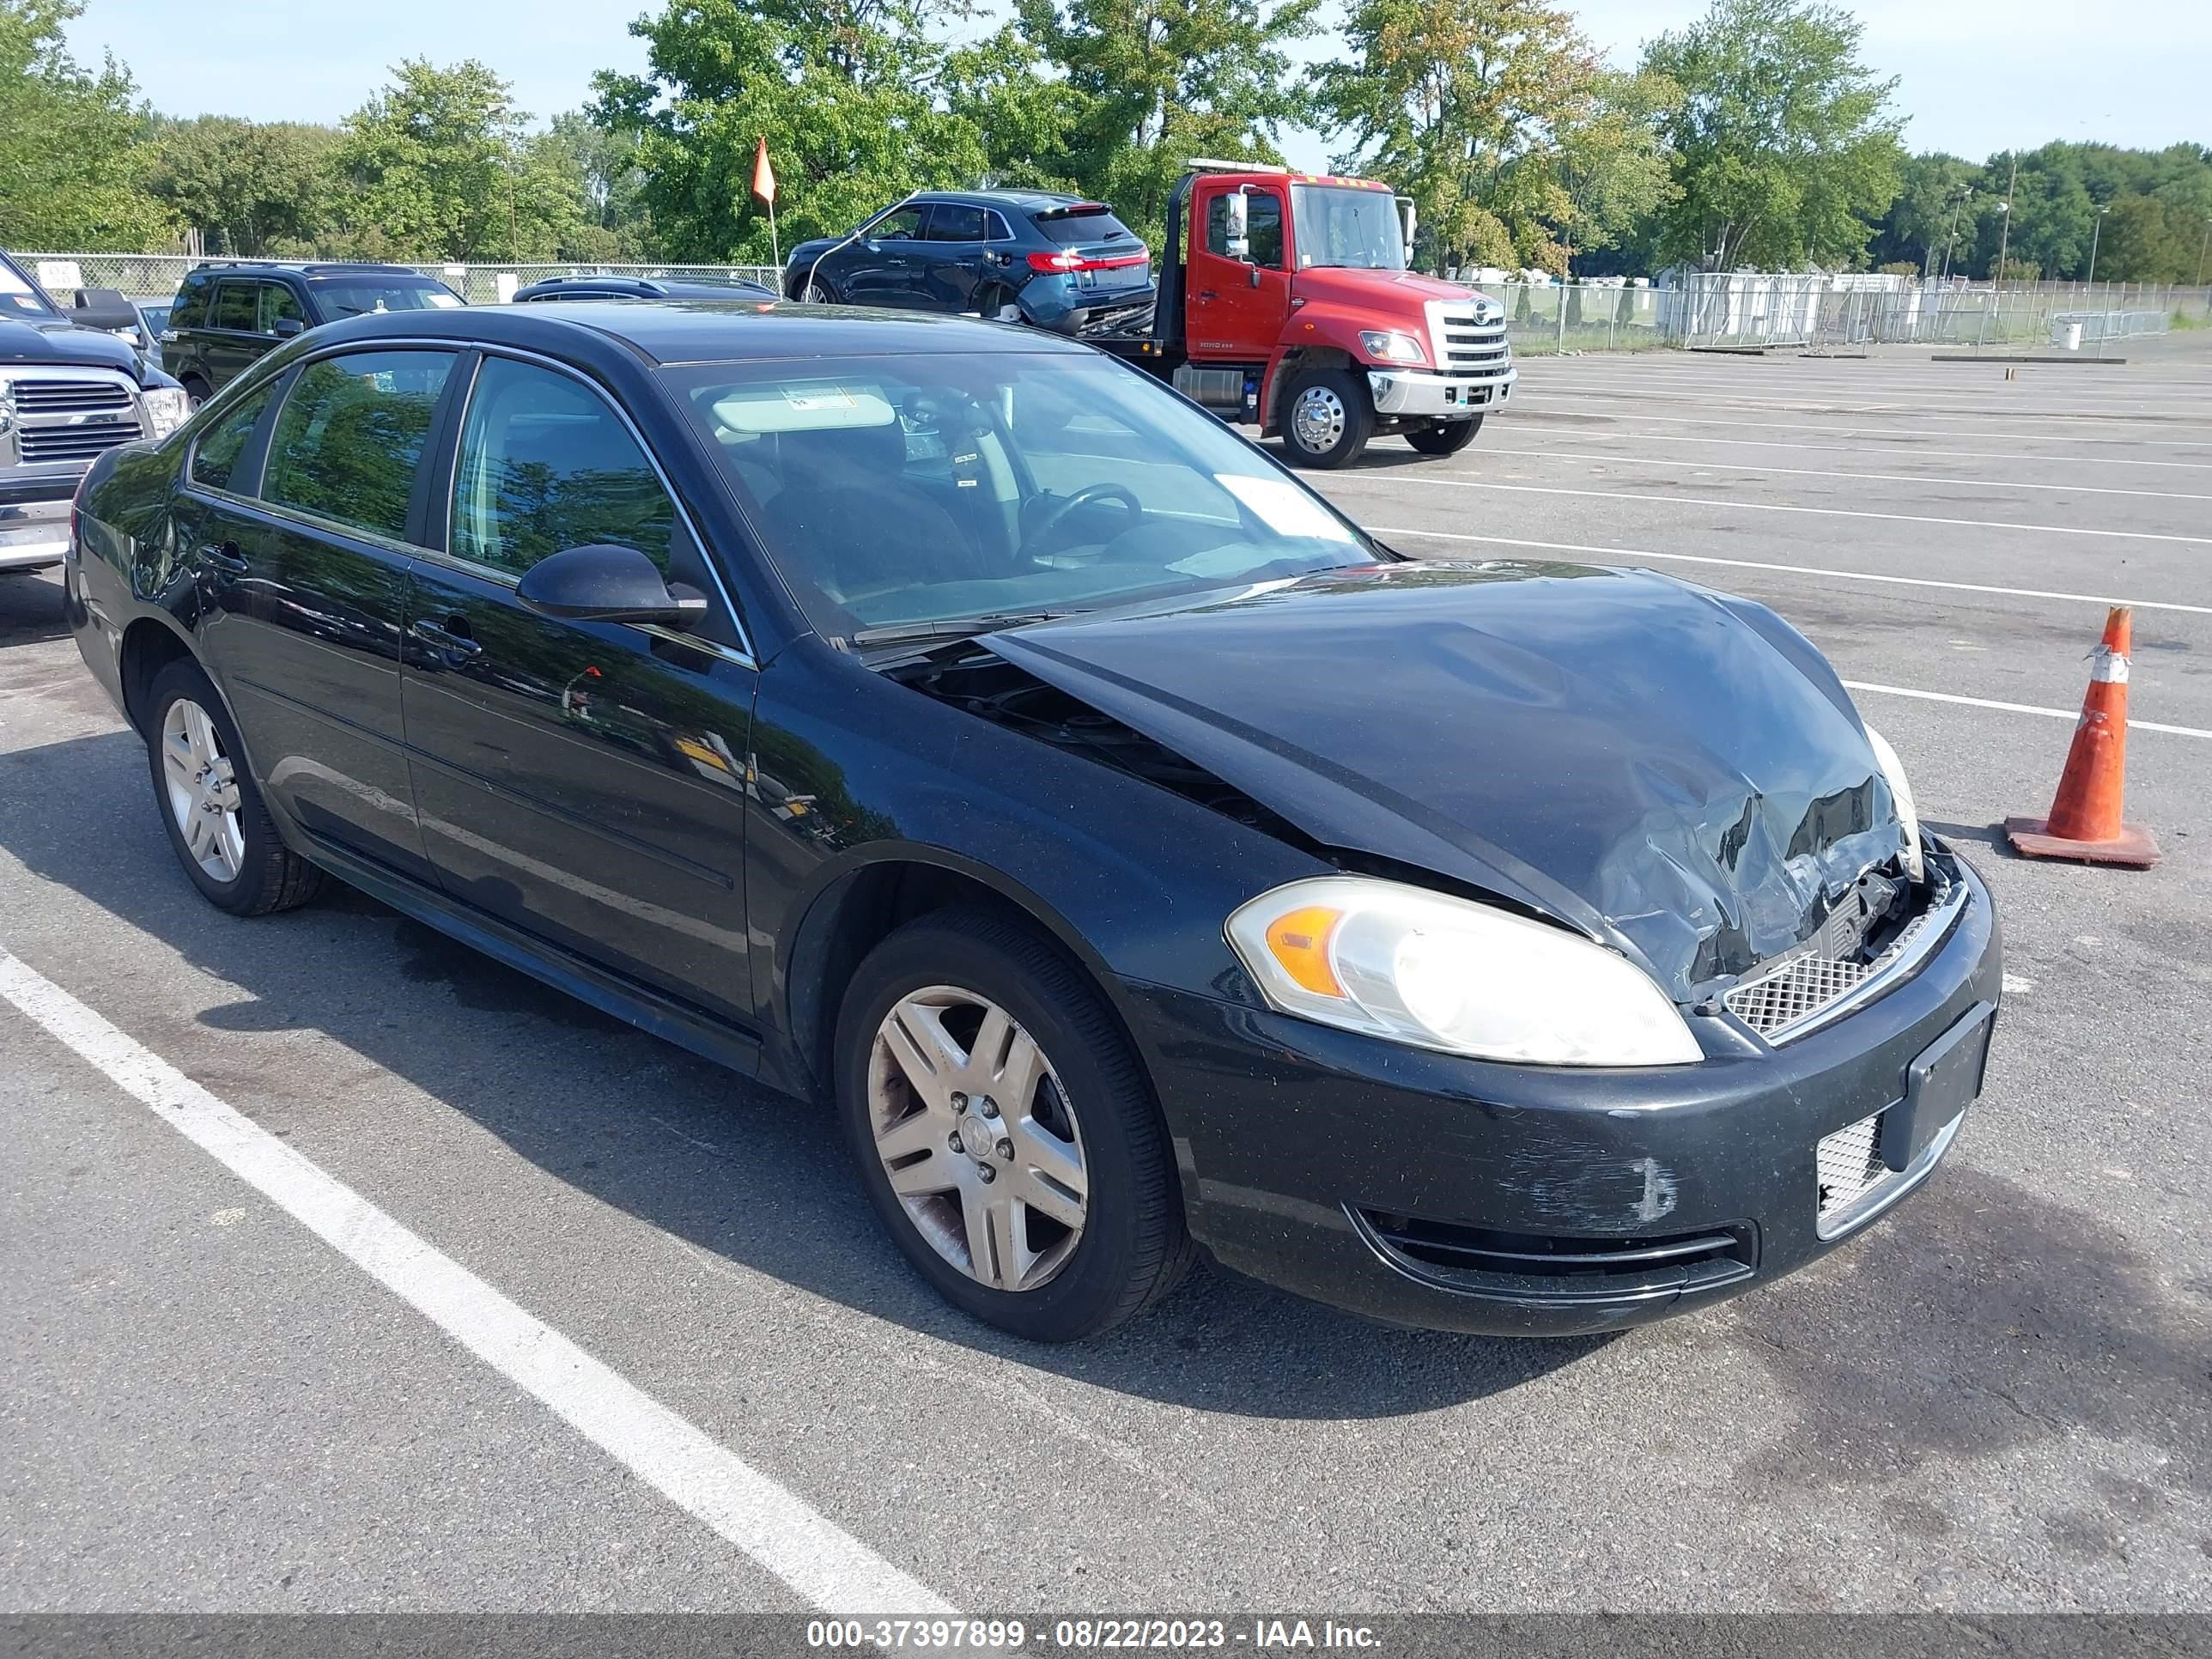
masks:
{"label": "pale blue sky above and between the trees", "polygon": [[[113,51],[168,115],[336,122],[400,58],[480,58],[544,122],[591,97],[595,69],[646,66],[644,42],[628,33],[644,9],[646,0],[88,0],[69,40],[88,62]],[[1584,33],[1624,66],[1644,40],[1703,9],[1703,0],[1577,7]],[[2212,144],[2203,0],[2135,0],[2119,13],[2075,0],[1860,0],[1856,13],[1867,62],[1898,77],[1913,150],[1980,161],[2051,139]],[[1329,142],[1285,133],[1285,155],[1318,168]]]}

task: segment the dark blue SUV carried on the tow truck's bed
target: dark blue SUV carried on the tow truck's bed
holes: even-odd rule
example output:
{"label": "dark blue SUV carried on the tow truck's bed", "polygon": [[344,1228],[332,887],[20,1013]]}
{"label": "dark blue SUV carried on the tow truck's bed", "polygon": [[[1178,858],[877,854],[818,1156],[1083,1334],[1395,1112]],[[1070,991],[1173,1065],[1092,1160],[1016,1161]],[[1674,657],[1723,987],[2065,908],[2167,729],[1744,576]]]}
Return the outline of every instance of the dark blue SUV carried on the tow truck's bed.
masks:
{"label": "dark blue SUV carried on the tow truck's bed", "polygon": [[1048,190],[927,190],[845,237],[799,243],[790,299],[1128,327],[1152,305],[1152,252],[1104,201]]}

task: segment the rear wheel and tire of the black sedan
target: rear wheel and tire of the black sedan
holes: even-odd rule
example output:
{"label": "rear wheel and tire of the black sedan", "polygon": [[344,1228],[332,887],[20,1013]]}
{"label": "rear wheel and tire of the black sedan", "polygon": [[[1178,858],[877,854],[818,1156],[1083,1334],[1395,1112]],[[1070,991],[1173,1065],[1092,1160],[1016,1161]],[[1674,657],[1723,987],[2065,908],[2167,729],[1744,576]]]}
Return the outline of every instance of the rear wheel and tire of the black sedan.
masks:
{"label": "rear wheel and tire of the black sedan", "polygon": [[[204,785],[195,796],[190,783],[197,774],[195,761],[206,759],[195,743],[197,723],[204,723],[204,737],[223,770],[212,787]],[[314,898],[323,872],[283,845],[252,770],[241,761],[243,754],[239,728],[199,664],[181,659],[155,675],[146,692],[146,765],[168,845],[210,905],[232,916],[268,916]],[[232,805],[206,812],[208,801]],[[197,812],[212,821],[208,838],[197,849],[184,827],[188,821],[197,823],[195,803]],[[223,830],[223,818],[234,834]]]}

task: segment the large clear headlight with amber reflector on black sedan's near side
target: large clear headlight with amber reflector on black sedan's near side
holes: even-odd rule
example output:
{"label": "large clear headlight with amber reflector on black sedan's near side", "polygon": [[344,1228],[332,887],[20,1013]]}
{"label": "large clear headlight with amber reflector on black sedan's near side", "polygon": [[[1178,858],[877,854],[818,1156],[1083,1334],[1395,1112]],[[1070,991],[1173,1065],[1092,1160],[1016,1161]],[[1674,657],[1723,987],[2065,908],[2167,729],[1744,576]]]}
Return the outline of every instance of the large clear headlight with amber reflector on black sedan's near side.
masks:
{"label": "large clear headlight with amber reflector on black sedan's near side", "polygon": [[1345,1031],[1537,1066],[1703,1060],[1628,958],[1422,887],[1294,880],[1241,905],[1228,936],[1267,1002]]}

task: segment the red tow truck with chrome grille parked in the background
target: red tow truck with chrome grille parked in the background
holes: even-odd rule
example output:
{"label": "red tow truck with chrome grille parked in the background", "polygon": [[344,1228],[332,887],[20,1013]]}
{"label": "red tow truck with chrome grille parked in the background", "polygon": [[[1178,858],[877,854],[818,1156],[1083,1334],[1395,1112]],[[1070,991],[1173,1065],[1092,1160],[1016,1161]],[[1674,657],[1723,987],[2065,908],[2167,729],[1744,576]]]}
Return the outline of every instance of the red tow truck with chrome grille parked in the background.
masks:
{"label": "red tow truck with chrome grille parked in the background", "polygon": [[1413,204],[1371,179],[1190,161],[1141,332],[1086,334],[1301,467],[1378,434],[1451,456],[1513,396],[1495,299],[1407,270]]}

